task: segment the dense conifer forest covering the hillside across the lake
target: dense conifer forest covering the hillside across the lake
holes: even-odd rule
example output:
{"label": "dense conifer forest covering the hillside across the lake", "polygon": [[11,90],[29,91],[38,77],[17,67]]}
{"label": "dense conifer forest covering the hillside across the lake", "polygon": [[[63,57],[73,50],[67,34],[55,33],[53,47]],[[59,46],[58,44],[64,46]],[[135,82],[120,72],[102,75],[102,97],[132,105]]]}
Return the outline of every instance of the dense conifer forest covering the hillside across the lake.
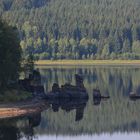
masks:
{"label": "dense conifer forest covering the hillside across the lake", "polygon": [[1,0],[0,13],[39,59],[139,59],[139,0]]}

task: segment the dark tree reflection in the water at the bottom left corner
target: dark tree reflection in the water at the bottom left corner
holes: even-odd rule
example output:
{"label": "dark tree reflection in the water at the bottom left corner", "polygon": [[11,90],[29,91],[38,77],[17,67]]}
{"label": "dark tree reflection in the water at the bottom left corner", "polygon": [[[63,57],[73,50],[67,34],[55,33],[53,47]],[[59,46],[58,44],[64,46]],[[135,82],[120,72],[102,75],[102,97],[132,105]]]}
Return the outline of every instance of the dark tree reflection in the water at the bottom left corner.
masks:
{"label": "dark tree reflection in the water at the bottom left corner", "polygon": [[34,114],[29,118],[9,119],[0,121],[0,140],[32,140],[34,127],[41,121],[41,114]]}

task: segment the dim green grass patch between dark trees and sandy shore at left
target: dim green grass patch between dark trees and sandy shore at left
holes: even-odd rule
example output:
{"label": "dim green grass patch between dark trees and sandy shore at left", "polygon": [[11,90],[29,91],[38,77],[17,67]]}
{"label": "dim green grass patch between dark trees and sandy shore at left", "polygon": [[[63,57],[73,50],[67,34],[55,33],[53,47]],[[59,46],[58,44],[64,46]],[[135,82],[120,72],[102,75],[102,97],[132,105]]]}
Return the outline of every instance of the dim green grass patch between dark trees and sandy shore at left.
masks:
{"label": "dim green grass patch between dark trees and sandy shore at left", "polygon": [[0,102],[18,102],[32,97],[32,94],[26,91],[17,89],[7,89],[0,94]]}

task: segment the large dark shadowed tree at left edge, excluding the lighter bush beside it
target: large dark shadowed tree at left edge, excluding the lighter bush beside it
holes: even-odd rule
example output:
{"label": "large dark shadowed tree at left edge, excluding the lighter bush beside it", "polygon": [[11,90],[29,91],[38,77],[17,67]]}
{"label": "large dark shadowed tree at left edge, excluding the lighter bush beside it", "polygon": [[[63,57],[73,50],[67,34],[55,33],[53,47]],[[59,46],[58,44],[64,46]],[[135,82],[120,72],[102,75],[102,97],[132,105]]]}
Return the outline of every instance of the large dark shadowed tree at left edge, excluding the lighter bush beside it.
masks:
{"label": "large dark shadowed tree at left edge, excluding the lighter bush beside it", "polygon": [[0,87],[18,79],[21,61],[17,29],[0,21]]}

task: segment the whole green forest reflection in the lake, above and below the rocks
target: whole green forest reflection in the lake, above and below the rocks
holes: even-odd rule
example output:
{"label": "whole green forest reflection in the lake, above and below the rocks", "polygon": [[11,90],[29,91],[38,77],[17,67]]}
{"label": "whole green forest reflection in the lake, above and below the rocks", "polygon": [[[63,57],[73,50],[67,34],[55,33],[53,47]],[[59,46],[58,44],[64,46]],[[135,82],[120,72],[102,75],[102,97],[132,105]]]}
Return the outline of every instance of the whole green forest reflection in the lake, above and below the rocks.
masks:
{"label": "whole green forest reflection in the lake, above and below the rocks", "polygon": [[[84,85],[88,90],[90,101],[84,110],[84,117],[76,123],[75,111],[66,113],[59,110],[57,113],[49,111],[43,113],[43,124],[38,132],[77,134],[101,132],[130,132],[140,131],[140,102],[132,102],[127,98],[130,91],[140,84],[140,70],[124,67],[83,67],[83,68],[47,68],[40,70],[42,82],[51,89],[53,83],[74,84],[74,74],[84,76]],[[100,106],[93,106],[92,91],[99,87],[103,95],[110,95],[111,99],[101,102]],[[54,123],[55,122],[55,123]],[[45,125],[47,124],[47,126]]]}

